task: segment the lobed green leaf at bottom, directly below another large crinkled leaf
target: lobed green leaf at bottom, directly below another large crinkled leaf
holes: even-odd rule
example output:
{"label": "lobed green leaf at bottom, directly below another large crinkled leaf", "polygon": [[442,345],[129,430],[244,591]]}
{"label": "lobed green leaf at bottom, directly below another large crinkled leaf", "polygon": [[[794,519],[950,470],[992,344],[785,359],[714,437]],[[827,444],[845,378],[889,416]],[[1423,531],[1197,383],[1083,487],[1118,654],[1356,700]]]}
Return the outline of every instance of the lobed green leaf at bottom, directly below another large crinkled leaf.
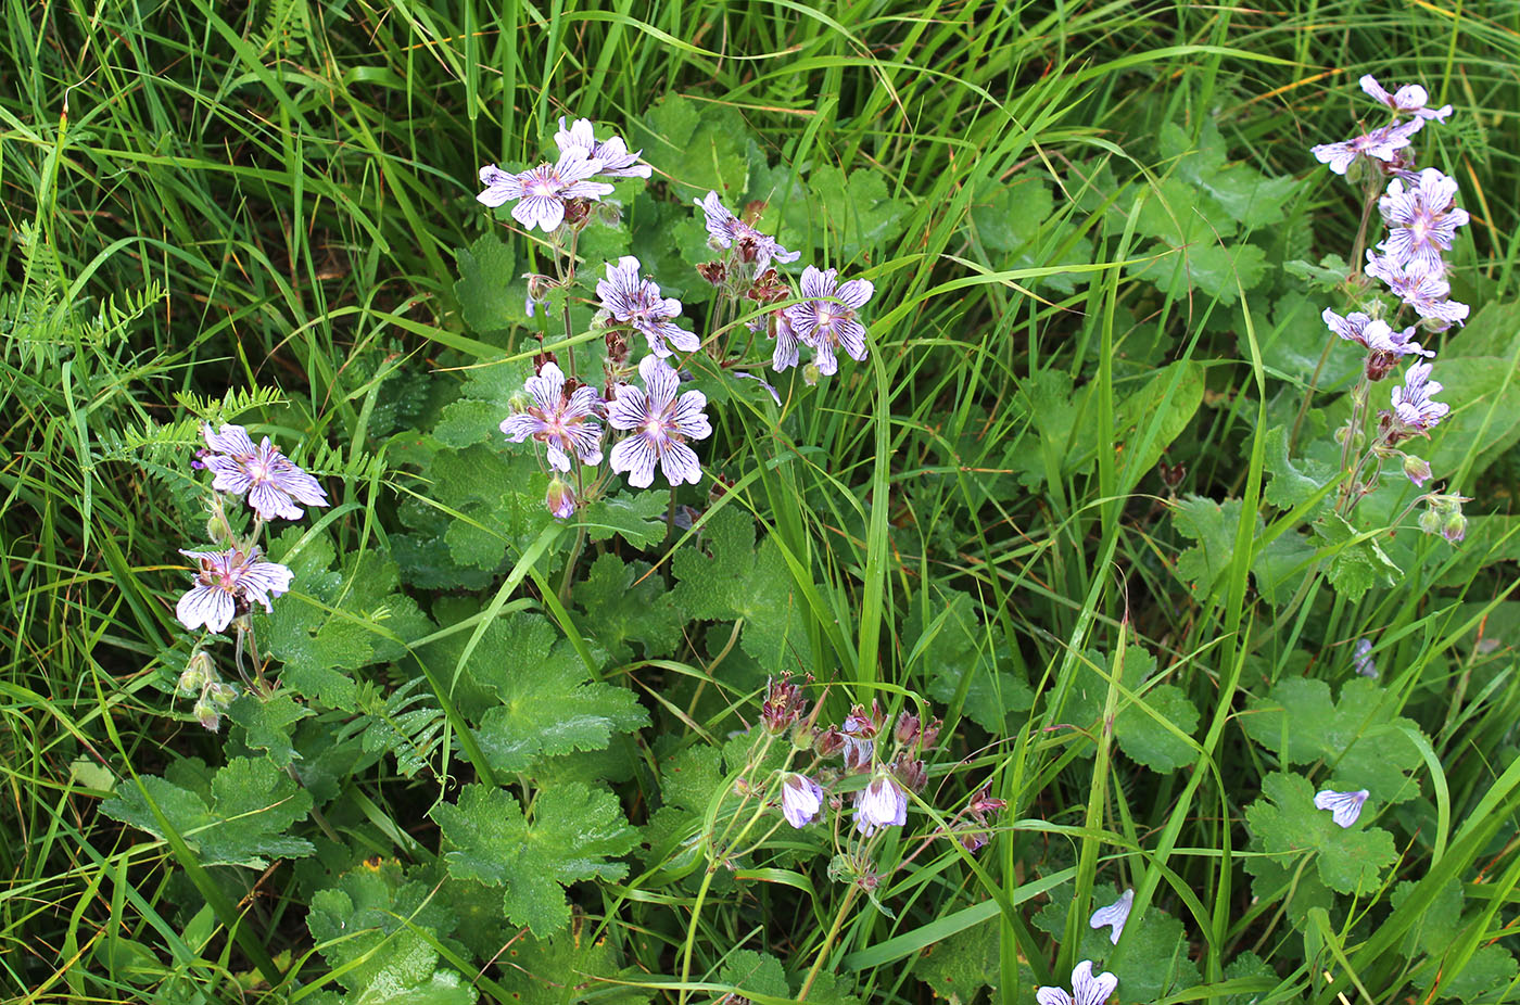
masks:
{"label": "lobed green leaf at bottom, directly below another large crinkled leaf", "polygon": [[619,880],[628,865],[614,862],[638,842],[611,792],[579,783],[544,789],[529,821],[503,789],[468,785],[458,804],[433,807],[445,861],[461,879],[506,886],[503,905],[514,924],[543,938],[570,920],[564,886],[582,879]]}

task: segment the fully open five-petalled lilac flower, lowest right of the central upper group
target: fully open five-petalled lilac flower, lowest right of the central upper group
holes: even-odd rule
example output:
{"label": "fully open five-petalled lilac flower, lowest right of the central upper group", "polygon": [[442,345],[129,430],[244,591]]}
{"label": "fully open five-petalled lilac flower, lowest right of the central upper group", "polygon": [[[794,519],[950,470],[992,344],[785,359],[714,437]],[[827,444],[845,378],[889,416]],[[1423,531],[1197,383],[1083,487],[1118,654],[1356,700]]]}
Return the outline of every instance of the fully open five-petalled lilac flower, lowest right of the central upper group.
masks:
{"label": "fully open five-petalled lilac flower, lowest right of the central upper group", "polygon": [[672,487],[682,482],[696,485],[702,480],[702,467],[686,441],[705,439],[713,433],[702,414],[707,395],[687,391],[676,398],[679,377],[658,356],[638,360],[638,376],[648,391],[623,385],[606,406],[606,424],[632,433],[613,447],[613,471],[628,471],[629,485],[649,488],[658,462]]}

